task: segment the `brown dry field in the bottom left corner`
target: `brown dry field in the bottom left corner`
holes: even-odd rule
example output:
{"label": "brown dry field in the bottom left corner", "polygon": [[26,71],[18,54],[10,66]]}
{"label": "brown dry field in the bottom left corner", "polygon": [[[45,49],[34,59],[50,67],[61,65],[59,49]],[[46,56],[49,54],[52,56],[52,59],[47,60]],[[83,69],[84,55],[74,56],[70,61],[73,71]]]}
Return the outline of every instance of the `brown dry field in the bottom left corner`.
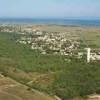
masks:
{"label": "brown dry field in the bottom left corner", "polygon": [[0,100],[54,100],[36,90],[0,75]]}

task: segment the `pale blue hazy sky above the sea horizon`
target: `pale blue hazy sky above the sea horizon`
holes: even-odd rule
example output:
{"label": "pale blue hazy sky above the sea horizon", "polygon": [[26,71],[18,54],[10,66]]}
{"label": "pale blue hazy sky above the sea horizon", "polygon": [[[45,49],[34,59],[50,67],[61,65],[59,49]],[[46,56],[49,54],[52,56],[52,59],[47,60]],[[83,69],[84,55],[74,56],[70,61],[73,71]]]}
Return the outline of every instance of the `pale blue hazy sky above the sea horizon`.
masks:
{"label": "pale blue hazy sky above the sea horizon", "polygon": [[100,0],[0,0],[0,17],[100,18]]}

